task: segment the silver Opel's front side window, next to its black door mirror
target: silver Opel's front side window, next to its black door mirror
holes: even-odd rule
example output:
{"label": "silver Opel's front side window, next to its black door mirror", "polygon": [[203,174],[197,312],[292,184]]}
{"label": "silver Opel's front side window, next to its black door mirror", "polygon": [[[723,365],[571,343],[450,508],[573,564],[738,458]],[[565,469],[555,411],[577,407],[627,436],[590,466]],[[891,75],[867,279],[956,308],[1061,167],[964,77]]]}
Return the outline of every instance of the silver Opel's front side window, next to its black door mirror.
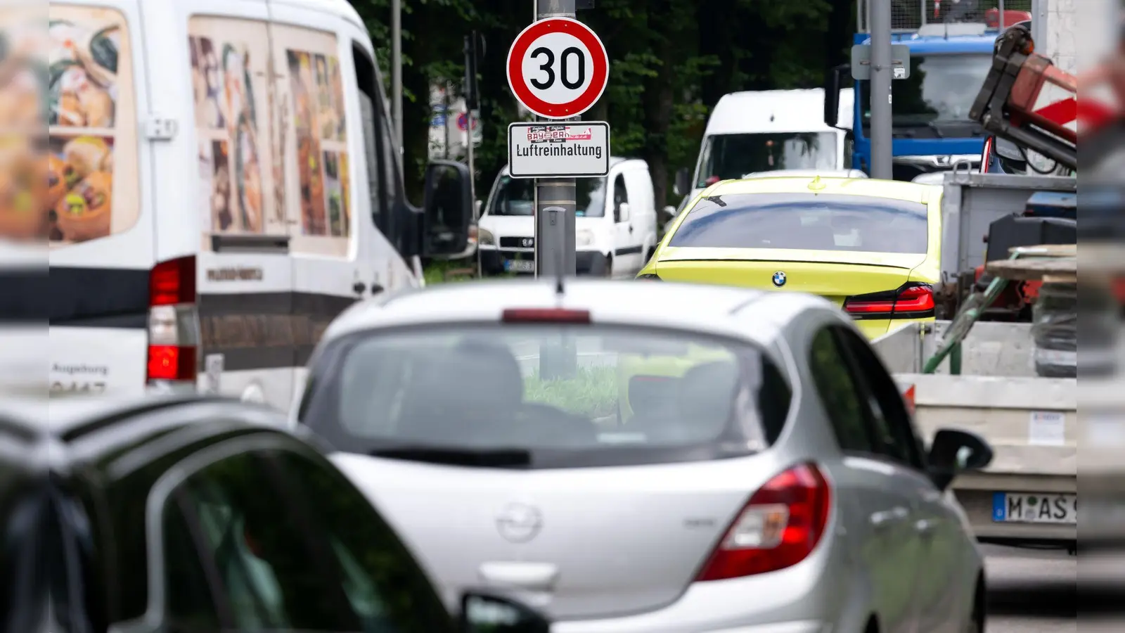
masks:
{"label": "silver Opel's front side window, next to its black door mirror", "polygon": [[836,336],[848,350],[856,374],[864,383],[863,391],[868,395],[868,408],[881,452],[915,469],[925,470],[921,443],[894,378],[886,373],[871,346],[858,335],[837,328]]}

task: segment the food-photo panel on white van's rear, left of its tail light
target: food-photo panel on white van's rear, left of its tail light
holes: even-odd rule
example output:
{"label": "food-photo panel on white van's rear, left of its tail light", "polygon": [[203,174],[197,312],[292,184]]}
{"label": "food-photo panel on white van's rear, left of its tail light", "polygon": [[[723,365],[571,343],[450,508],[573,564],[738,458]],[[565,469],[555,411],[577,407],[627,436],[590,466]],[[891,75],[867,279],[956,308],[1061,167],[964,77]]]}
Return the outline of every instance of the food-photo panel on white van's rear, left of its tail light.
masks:
{"label": "food-photo panel on white van's rear, left of its tail light", "polygon": [[136,117],[119,12],[52,5],[48,45],[46,193],[27,220],[62,246],[135,224]]}

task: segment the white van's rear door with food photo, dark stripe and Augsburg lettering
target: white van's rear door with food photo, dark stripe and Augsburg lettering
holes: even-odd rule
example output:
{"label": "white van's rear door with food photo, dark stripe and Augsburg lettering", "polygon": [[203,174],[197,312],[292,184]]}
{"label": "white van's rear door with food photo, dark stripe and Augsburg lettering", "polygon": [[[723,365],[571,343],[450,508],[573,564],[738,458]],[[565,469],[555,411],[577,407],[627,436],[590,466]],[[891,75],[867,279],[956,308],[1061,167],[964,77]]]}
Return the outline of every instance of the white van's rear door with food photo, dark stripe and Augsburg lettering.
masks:
{"label": "white van's rear door with food photo, dark stripe and Augsburg lettering", "polygon": [[156,264],[147,55],[137,0],[50,5],[50,377],[53,391],[145,386]]}

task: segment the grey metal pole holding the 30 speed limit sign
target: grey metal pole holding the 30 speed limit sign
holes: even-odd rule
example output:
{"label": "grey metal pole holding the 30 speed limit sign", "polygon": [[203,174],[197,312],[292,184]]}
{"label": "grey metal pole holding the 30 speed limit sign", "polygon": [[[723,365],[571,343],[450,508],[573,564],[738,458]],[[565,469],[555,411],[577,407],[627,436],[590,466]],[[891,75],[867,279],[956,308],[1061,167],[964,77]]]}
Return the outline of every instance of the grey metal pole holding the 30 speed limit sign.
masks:
{"label": "grey metal pole holding the 30 speed limit sign", "polygon": [[[532,0],[536,3],[536,20],[543,18],[577,17],[574,0]],[[578,121],[573,117],[562,121],[549,121],[537,117],[537,121],[557,125]],[[575,207],[577,189],[574,178],[537,178],[536,179],[536,276],[557,277],[558,275],[575,276],[577,262],[575,256]],[[558,207],[562,211],[550,213],[547,207]],[[561,248],[562,252],[559,252]]]}

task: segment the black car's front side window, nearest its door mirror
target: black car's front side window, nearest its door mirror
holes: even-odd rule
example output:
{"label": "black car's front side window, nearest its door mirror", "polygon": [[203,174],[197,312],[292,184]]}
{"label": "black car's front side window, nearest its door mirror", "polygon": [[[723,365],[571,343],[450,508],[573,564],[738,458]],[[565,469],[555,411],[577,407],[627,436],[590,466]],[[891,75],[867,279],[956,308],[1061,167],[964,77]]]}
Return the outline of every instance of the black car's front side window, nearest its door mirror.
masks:
{"label": "black car's front side window, nearest its door mirror", "polygon": [[327,463],[296,453],[270,460],[290,480],[288,498],[323,534],[362,631],[436,633],[452,623],[429,578],[370,501]]}

